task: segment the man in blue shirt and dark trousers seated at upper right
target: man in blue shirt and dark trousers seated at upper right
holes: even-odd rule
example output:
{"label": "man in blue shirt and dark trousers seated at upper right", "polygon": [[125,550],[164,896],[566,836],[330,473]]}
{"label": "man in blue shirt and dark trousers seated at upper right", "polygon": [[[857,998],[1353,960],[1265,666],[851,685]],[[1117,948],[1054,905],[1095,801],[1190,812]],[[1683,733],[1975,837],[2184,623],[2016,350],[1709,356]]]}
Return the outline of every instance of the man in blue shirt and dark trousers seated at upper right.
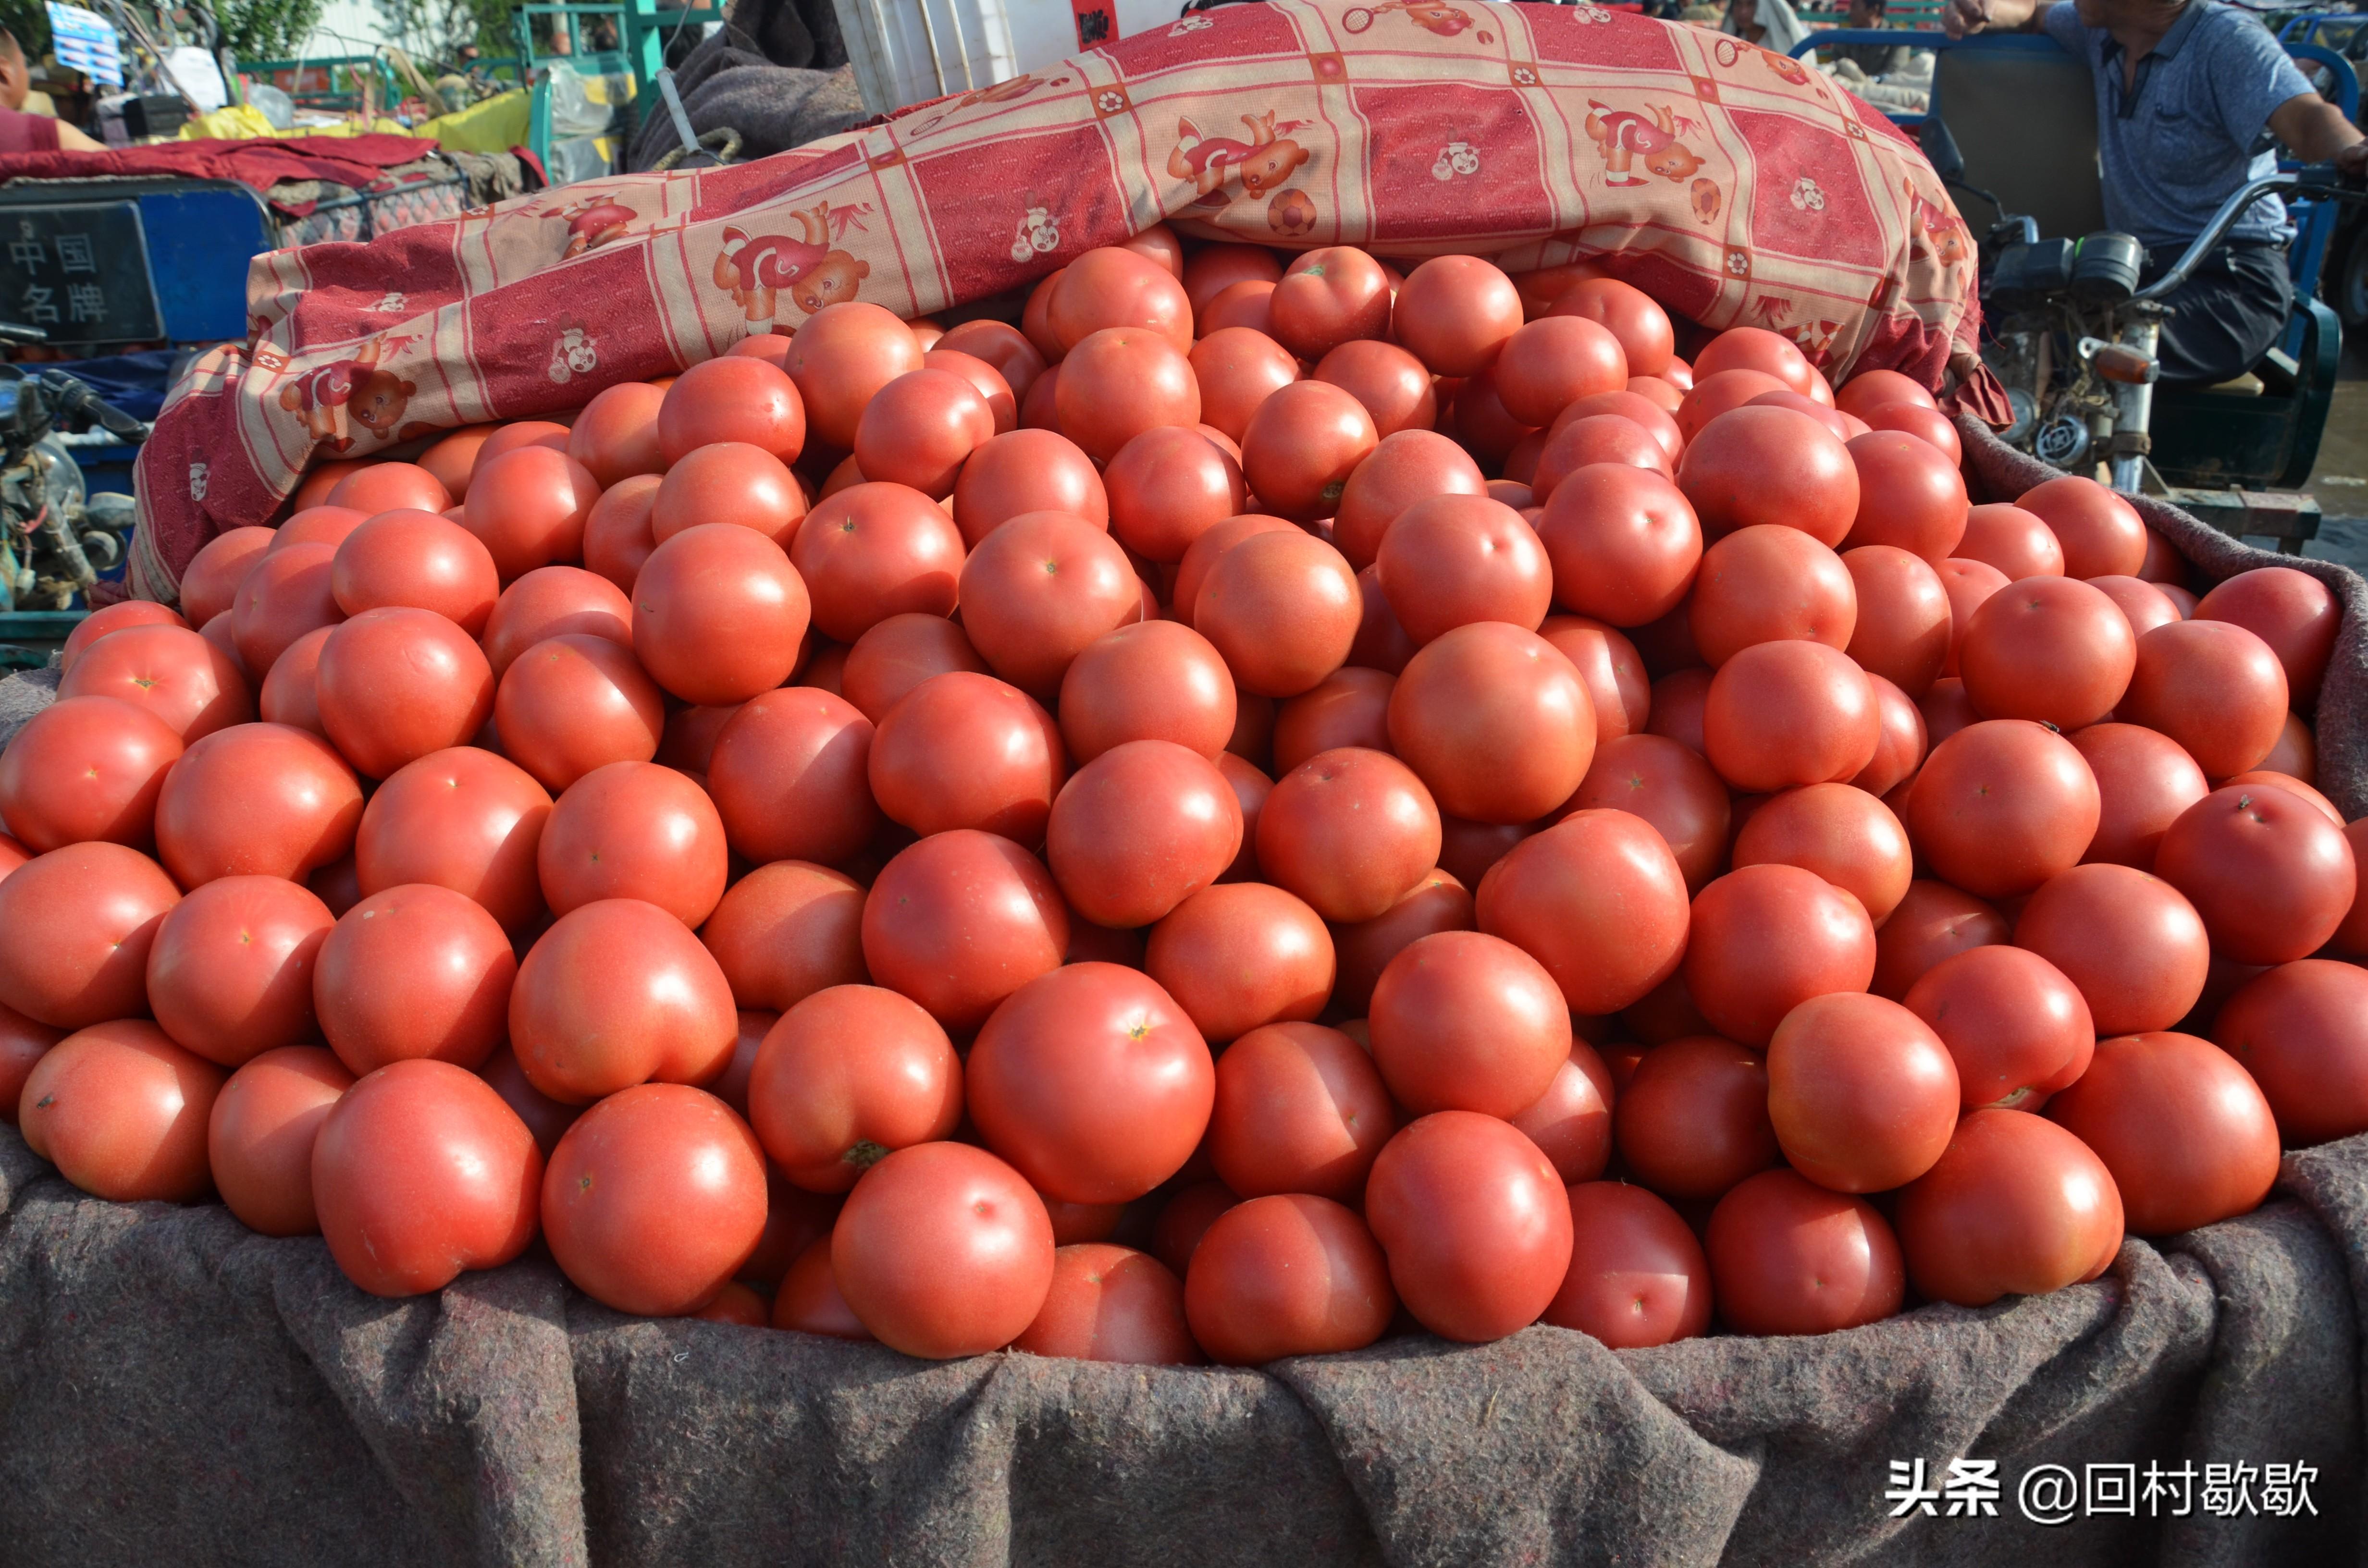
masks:
{"label": "man in blue shirt and dark trousers seated at upper right", "polygon": [[[2148,279],[2231,192],[2276,173],[2271,135],[2306,163],[2354,180],[2368,171],[2359,128],[2311,92],[2269,28],[2216,0],[1949,0],[1942,24],[1951,38],[2044,31],[2089,62],[2105,223],[2148,246]],[[2292,237],[2285,204],[2257,201],[2164,301],[2164,381],[2226,381],[2269,353],[2295,308]]]}

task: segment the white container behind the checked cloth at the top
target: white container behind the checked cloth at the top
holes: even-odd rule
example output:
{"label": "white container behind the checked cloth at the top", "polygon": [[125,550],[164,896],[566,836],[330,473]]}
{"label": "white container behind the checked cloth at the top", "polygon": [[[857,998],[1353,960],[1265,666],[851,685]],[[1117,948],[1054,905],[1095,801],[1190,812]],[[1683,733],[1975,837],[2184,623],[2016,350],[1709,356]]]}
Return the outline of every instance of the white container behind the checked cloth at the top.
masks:
{"label": "white container behind the checked cloth at the top", "polygon": [[[886,114],[976,92],[1182,14],[1182,0],[831,0],[864,107]],[[1080,12],[1108,19],[1108,38]],[[1115,24],[1115,26],[1111,26]]]}

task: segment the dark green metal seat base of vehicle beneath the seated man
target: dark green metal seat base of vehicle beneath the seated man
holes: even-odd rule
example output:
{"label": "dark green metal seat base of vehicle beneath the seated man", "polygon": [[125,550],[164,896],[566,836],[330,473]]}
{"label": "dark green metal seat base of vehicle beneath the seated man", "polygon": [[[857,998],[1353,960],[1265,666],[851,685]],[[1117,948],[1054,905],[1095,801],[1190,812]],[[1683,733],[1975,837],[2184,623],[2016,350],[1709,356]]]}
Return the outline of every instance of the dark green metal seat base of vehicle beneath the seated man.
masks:
{"label": "dark green metal seat base of vehicle beneath the seated man", "polygon": [[2344,353],[2342,322],[2318,298],[2297,298],[2302,353],[2257,367],[2259,398],[2209,388],[2155,388],[2148,433],[2155,469],[2174,486],[2297,490],[2318,462]]}

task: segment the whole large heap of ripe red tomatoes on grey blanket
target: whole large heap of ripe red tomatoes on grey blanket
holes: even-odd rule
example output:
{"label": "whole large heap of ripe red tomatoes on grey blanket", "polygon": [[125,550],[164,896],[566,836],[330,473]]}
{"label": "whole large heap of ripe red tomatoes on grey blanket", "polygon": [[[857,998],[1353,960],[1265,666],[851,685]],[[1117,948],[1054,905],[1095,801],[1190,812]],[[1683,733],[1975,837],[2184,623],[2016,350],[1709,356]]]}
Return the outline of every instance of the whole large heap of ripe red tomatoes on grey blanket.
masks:
{"label": "whole large heap of ripe red tomatoes on grey blanket", "polygon": [[2340,616],[1958,460],[1587,265],[1153,230],[327,464],[0,756],[0,1101],[381,1296],[924,1357],[2093,1279],[2368,1130]]}

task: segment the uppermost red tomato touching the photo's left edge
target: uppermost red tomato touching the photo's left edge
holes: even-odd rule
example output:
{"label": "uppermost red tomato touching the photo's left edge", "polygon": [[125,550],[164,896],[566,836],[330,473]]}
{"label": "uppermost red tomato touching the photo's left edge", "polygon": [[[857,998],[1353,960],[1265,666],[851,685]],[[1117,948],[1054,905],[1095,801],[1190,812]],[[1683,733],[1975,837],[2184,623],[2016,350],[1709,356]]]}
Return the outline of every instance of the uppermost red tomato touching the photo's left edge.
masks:
{"label": "uppermost red tomato touching the photo's left edge", "polygon": [[159,796],[182,751],[173,725],[147,706],[66,696],[28,718],[0,751],[0,815],[33,853],[83,841],[149,848]]}

